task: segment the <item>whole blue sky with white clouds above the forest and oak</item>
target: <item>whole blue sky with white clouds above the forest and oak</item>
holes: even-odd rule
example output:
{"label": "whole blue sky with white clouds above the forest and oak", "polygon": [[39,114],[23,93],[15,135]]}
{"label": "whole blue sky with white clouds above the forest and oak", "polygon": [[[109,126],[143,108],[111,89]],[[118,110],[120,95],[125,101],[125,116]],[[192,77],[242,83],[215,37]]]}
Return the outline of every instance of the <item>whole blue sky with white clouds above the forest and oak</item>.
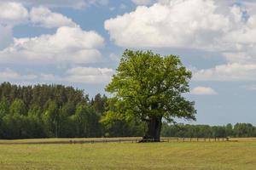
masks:
{"label": "whole blue sky with white clouds above the forest and oak", "polygon": [[254,0],[0,0],[0,82],[106,94],[125,48],[181,57],[188,123],[256,124]]}

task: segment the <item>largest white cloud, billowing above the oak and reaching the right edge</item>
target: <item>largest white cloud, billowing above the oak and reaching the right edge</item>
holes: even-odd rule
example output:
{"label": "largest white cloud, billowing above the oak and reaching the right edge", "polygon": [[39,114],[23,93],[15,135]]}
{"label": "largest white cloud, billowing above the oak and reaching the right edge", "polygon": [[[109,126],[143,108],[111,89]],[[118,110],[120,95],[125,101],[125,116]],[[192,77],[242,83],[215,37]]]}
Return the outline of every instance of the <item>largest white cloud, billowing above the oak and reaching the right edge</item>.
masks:
{"label": "largest white cloud, billowing above the oak and reaching the right edge", "polygon": [[214,0],[161,1],[106,20],[105,29],[113,42],[126,48],[255,47],[256,15],[248,13],[250,6],[229,5]]}

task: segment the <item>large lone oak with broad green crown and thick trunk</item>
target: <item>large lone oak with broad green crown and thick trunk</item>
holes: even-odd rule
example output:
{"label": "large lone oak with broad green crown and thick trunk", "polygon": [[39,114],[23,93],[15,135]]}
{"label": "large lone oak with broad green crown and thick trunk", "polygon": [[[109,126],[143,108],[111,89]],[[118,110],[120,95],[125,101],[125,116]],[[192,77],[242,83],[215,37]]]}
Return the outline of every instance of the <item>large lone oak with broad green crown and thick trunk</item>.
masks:
{"label": "large lone oak with broad green crown and thick trunk", "polygon": [[195,120],[194,102],[183,97],[189,92],[190,78],[191,72],[175,55],[125,50],[106,88],[116,99],[115,109],[107,114],[137,116],[148,127],[143,141],[160,141],[163,118]]}

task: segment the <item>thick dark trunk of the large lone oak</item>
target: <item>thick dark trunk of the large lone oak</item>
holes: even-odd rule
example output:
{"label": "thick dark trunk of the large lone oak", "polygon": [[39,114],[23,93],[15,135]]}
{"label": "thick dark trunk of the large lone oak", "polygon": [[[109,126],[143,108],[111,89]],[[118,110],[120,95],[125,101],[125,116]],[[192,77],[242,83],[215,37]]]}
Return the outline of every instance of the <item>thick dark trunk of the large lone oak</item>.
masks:
{"label": "thick dark trunk of the large lone oak", "polygon": [[148,130],[140,142],[160,142],[160,132],[162,128],[162,117],[152,116],[147,122]]}

